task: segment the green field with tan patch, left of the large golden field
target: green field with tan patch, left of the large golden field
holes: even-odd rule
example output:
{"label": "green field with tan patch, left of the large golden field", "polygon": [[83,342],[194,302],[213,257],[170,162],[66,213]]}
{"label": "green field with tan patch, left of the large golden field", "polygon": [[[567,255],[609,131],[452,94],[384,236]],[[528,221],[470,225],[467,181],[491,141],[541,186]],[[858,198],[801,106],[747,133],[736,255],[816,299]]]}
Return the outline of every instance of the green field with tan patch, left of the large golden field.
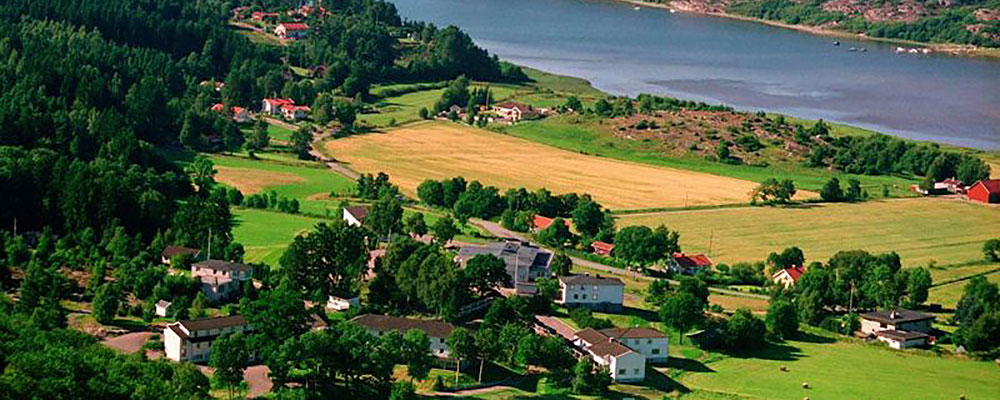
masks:
{"label": "green field with tan patch, left of the large golden field", "polygon": [[266,190],[298,199],[304,213],[327,215],[339,212],[339,206],[328,200],[331,191],[344,193],[352,190],[354,182],[330,171],[321,164],[285,163],[251,160],[240,157],[213,155],[215,179],[225,185],[240,189],[244,195]]}

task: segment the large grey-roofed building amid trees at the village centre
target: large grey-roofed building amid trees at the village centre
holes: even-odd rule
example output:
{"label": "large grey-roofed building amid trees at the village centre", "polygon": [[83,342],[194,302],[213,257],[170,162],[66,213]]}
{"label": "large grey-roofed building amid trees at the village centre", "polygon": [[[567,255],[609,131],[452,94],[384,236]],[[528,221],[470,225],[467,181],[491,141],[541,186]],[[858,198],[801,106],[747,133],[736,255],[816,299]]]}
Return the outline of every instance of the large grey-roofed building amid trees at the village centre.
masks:
{"label": "large grey-roofed building amid trees at the village centre", "polygon": [[509,284],[518,294],[535,294],[537,289],[535,281],[550,274],[549,263],[552,261],[552,253],[516,239],[487,245],[462,246],[458,250],[456,261],[465,265],[480,254],[492,254],[504,261],[507,275],[510,276]]}

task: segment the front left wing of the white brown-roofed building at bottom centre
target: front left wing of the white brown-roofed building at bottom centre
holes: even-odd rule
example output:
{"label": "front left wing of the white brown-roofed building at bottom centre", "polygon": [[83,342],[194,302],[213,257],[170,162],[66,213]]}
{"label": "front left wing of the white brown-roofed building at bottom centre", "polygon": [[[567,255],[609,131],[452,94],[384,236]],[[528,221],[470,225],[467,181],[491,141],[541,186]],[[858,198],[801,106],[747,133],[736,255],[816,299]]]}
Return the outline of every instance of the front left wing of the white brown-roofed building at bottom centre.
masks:
{"label": "front left wing of the white brown-roofed building at bottom centre", "polygon": [[573,344],[590,354],[595,363],[607,368],[615,382],[641,382],[646,379],[646,356],[612,337],[585,329],[573,336]]}

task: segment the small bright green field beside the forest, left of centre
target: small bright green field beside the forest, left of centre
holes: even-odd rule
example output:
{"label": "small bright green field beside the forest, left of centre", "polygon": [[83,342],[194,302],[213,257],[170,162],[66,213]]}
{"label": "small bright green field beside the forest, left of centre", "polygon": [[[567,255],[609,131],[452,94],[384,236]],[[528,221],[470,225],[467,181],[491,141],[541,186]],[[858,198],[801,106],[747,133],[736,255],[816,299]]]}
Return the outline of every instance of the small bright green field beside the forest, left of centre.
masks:
{"label": "small bright green field beside the forest, left of centre", "polygon": [[233,236],[243,244],[247,262],[278,266],[281,254],[296,235],[312,229],[324,220],[301,215],[252,208],[234,209],[236,227]]}

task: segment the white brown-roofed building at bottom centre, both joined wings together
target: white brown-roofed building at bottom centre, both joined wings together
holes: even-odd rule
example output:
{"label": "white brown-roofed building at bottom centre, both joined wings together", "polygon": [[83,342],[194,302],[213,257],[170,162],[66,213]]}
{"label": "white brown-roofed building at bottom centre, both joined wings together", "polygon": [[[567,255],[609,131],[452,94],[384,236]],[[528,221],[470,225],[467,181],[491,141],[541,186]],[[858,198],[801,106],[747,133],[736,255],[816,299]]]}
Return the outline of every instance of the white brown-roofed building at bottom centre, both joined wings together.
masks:
{"label": "white brown-roofed building at bottom centre, both joined wings together", "polygon": [[[646,330],[656,332],[652,329]],[[643,379],[646,379],[646,356],[639,350],[626,346],[622,343],[622,339],[631,340],[633,343],[636,341],[642,343],[643,339],[648,340],[649,343],[643,344],[643,348],[650,354],[653,354],[655,350],[656,354],[662,358],[665,357],[667,352],[666,337],[659,334],[659,336],[663,337],[657,336],[654,342],[654,338],[652,337],[654,335],[651,332],[635,332],[630,334],[625,331],[627,330],[605,329],[598,331],[588,328],[573,335],[573,344],[590,354],[595,363],[607,368],[611,373],[611,379],[615,382],[641,382]],[[623,334],[630,337],[624,338]],[[632,336],[650,337],[639,338]],[[659,345],[663,347],[656,347]]]}

